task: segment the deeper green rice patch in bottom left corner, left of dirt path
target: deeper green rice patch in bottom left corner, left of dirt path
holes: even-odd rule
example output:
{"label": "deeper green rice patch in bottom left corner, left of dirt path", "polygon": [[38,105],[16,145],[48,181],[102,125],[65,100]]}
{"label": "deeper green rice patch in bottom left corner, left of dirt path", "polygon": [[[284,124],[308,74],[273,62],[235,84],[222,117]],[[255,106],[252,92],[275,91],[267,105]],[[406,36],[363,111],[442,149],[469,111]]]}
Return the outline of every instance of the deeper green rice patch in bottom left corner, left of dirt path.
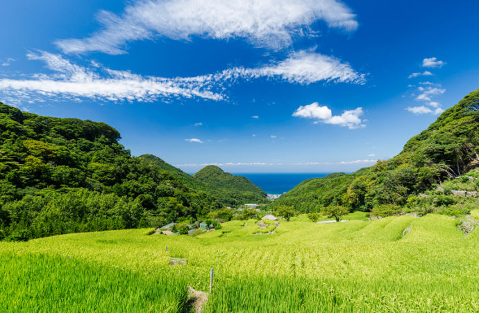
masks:
{"label": "deeper green rice patch in bottom left corner, left of dirt path", "polygon": [[0,312],[181,312],[187,284],[78,258],[0,253]]}

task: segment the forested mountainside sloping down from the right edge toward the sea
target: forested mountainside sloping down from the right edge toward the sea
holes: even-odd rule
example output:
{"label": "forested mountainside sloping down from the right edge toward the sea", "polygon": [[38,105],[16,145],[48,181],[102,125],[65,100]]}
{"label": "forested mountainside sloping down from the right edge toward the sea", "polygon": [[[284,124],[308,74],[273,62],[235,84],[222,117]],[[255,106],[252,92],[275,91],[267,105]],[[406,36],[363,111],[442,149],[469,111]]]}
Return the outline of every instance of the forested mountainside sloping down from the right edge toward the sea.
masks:
{"label": "forested mountainside sloping down from the right edge toward the sea", "polygon": [[342,204],[371,211],[380,204],[403,206],[445,179],[479,164],[479,90],[444,111],[428,129],[410,138],[403,151],[387,161],[352,174],[309,179],[274,202],[302,212]]}

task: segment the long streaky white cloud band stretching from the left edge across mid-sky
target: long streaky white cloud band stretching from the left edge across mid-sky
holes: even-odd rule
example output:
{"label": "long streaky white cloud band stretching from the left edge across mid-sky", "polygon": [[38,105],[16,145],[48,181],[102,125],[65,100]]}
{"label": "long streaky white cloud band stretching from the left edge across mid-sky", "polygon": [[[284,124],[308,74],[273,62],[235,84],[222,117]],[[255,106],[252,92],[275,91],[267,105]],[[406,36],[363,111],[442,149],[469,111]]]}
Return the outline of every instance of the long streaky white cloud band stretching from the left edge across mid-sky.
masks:
{"label": "long streaky white cloud band stretching from the left edge across mid-sky", "polygon": [[0,93],[5,99],[146,101],[158,98],[203,98],[225,100],[225,84],[238,80],[267,78],[296,84],[319,81],[364,83],[364,75],[346,63],[311,51],[292,53],[286,60],[258,68],[235,67],[219,73],[192,77],[162,78],[116,71],[92,62],[79,66],[61,55],[38,51],[28,59],[41,60],[53,73],[36,73],[31,78],[0,79]]}

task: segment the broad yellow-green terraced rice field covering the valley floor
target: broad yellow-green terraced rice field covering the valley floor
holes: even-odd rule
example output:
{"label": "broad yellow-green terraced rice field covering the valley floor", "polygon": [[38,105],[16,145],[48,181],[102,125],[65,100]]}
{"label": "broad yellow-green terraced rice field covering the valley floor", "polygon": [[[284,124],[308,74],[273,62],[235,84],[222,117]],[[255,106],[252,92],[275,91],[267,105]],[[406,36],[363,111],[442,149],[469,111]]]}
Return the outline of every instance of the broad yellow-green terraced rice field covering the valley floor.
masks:
{"label": "broad yellow-green terraced rice field covering the valley floor", "polygon": [[[478,215],[476,211],[473,214]],[[258,231],[255,220],[223,226],[197,238],[128,230],[1,242],[1,264],[7,265],[0,268],[2,287],[16,292],[3,296],[0,308],[27,312],[31,306],[13,310],[11,305],[28,299],[28,303],[59,312],[61,303],[72,300],[62,298],[55,307],[60,296],[42,298],[35,293],[39,285],[72,288],[83,280],[92,281],[94,273],[89,269],[98,268],[106,277],[117,277],[111,284],[120,289],[144,284],[147,290],[137,294],[135,287],[124,289],[121,299],[99,296],[99,290],[113,288],[108,279],[102,280],[88,287],[87,295],[96,297],[96,302],[76,298],[83,310],[91,310],[93,305],[120,310],[120,305],[128,303],[131,311],[144,311],[145,305],[161,311],[176,305],[187,284],[207,291],[209,269],[214,267],[215,289],[205,312],[479,310],[479,233],[464,235],[450,217],[401,216],[335,224],[281,222],[274,235],[252,235]],[[12,253],[20,265],[12,262]],[[69,260],[65,260],[67,256]],[[186,258],[187,265],[170,267],[169,256]],[[42,258],[47,260],[38,262]],[[64,265],[70,274],[62,278],[24,279],[33,277],[35,271],[49,273]],[[124,274],[117,276],[119,270]],[[158,280],[159,294],[165,296],[151,289],[154,280]],[[24,289],[37,296],[29,298]]]}

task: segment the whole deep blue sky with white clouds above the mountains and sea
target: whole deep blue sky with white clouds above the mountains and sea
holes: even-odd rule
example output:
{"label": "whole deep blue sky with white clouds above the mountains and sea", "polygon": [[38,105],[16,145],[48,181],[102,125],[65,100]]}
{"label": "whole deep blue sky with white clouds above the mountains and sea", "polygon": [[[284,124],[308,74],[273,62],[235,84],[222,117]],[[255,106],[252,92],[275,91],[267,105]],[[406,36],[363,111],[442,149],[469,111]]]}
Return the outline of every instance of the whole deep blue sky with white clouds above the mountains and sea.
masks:
{"label": "whole deep blue sky with white clouds above the mountains and sea", "polygon": [[0,100],[186,172],[351,172],[479,87],[477,1],[2,1]]}

